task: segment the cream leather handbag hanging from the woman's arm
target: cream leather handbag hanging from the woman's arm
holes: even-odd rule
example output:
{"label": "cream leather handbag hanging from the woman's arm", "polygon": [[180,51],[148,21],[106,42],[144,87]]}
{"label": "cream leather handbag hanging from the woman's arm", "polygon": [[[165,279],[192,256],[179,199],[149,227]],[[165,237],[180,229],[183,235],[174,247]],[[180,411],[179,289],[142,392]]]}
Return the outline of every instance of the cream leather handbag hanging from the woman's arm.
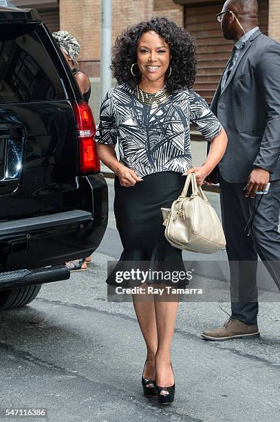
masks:
{"label": "cream leather handbag hanging from the woman's arm", "polygon": [[[186,194],[192,185],[191,197]],[[197,188],[195,174],[188,174],[180,197],[171,208],[161,208],[165,237],[178,249],[213,254],[226,246],[224,230],[202,188]]]}

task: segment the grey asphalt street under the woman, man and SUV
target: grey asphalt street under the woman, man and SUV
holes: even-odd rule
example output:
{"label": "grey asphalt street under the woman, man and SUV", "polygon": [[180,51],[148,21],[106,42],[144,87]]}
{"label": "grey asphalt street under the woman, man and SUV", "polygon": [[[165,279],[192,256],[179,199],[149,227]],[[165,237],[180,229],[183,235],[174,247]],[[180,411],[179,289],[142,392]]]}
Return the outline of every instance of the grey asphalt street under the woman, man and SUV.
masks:
{"label": "grey asphalt street under the woman, man and SUV", "polygon": [[[172,352],[175,403],[162,409],[142,396],[145,348],[133,305],[107,301],[107,261],[122,251],[113,181],[108,184],[109,225],[88,270],[45,284],[30,305],[0,314],[0,408],[47,408],[55,422],[279,421],[279,301],[260,303],[261,339],[203,341],[203,329],[228,317],[220,306],[230,312],[227,274],[215,268],[196,280],[217,300],[180,303]],[[207,196],[219,210],[219,195]],[[226,261],[226,253],[215,259]]]}

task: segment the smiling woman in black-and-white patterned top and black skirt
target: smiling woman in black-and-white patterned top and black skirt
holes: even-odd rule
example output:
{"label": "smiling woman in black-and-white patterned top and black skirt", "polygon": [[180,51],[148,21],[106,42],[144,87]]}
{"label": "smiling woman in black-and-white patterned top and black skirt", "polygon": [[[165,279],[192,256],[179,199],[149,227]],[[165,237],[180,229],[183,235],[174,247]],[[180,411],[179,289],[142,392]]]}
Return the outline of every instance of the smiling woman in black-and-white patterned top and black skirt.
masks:
{"label": "smiling woman in black-and-white patterned top and black skirt", "polygon": [[[195,41],[165,18],[139,23],[116,40],[111,70],[118,85],[101,105],[96,141],[101,161],[116,174],[114,211],[124,247],[117,268],[125,261],[148,261],[152,268],[160,261],[177,261],[180,266],[182,251],[164,238],[160,208],[169,208],[182,192],[182,174],[195,172],[202,185],[227,143],[206,101],[190,89],[197,70]],[[212,141],[198,168],[192,168],[190,121]],[[107,283],[116,285],[116,280],[110,275]],[[140,296],[133,294],[133,305],[147,345],[144,394],[157,394],[160,404],[171,403],[171,340],[178,303]]]}

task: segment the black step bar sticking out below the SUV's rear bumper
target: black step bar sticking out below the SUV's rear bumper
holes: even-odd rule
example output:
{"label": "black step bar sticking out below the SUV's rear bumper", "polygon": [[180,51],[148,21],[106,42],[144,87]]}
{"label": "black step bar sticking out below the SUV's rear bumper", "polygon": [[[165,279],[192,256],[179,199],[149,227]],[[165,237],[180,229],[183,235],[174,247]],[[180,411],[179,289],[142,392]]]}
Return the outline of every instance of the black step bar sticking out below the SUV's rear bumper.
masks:
{"label": "black step bar sticking out below the SUV's rear bumper", "polygon": [[35,270],[17,270],[0,273],[0,292],[27,285],[52,283],[52,281],[67,280],[70,272],[65,265],[36,268]]}

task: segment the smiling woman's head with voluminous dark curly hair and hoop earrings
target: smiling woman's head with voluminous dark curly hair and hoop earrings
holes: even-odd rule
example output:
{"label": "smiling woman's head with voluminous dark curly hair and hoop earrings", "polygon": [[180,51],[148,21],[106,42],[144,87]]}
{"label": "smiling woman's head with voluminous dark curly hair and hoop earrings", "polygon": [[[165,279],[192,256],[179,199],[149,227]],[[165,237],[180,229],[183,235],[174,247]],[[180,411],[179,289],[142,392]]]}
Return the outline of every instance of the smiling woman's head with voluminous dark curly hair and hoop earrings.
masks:
{"label": "smiling woman's head with voluminous dark curly hair and hoop earrings", "polygon": [[162,79],[166,75],[168,92],[191,88],[197,72],[195,39],[165,18],[141,22],[116,39],[111,70],[119,83],[128,83],[131,88],[148,74],[155,75],[151,80],[158,79],[159,74]]}

